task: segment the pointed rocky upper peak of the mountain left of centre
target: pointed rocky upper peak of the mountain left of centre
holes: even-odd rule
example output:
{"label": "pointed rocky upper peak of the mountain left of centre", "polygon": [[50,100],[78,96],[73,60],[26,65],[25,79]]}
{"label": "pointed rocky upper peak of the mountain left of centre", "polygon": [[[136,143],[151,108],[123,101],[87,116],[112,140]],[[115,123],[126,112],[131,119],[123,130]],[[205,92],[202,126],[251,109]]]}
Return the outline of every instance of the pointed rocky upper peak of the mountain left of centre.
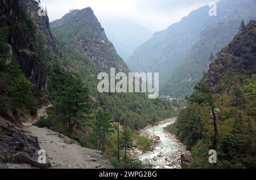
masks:
{"label": "pointed rocky upper peak of the mountain left of centre", "polygon": [[73,10],[55,20],[51,23],[51,30],[57,39],[72,44],[91,58],[98,70],[108,72],[110,68],[116,68],[117,71],[129,71],[90,7]]}

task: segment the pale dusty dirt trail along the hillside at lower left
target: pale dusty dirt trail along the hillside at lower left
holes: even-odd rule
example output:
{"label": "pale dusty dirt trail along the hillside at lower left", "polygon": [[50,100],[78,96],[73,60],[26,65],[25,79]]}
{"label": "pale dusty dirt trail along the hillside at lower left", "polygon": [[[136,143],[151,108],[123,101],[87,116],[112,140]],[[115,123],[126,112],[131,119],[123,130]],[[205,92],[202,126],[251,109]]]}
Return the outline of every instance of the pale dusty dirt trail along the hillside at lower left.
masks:
{"label": "pale dusty dirt trail along the hillside at lower left", "polygon": [[[46,109],[49,106],[43,106],[38,110],[38,116],[47,116]],[[53,132],[47,128],[32,126],[31,123],[23,123],[24,130],[30,131],[38,136],[40,148],[47,152],[47,158],[56,169],[95,169],[112,168],[112,165],[101,151],[95,151],[88,148],[82,148],[77,142]]]}

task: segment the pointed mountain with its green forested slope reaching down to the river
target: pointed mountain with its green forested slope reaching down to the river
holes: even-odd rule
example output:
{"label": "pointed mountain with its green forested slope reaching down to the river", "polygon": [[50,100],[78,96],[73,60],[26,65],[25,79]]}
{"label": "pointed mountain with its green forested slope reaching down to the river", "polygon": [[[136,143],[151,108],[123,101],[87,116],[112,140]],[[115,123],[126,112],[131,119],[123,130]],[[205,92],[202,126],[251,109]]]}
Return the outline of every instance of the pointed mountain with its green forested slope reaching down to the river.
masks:
{"label": "pointed mountain with its green forested slope reaching down to the river", "polygon": [[[73,71],[82,75],[82,78],[90,87],[92,96],[100,104],[99,106],[108,110],[115,117],[115,121],[126,122],[131,128],[138,130],[149,122],[158,121],[157,119],[168,117],[174,113],[170,102],[163,100],[151,101],[143,93],[108,94],[97,91],[98,72],[109,72],[112,67],[123,72],[129,72],[130,70],[117,55],[112,42],[106,37],[104,29],[91,8],[73,10],[50,25],[57,45],[63,49],[65,66],[68,65]],[[74,50],[77,62],[74,62],[73,59]],[[86,56],[92,59],[96,71],[86,70],[90,63],[81,63],[77,58],[80,56],[81,58]],[[88,73],[85,73],[85,71],[88,71]]]}

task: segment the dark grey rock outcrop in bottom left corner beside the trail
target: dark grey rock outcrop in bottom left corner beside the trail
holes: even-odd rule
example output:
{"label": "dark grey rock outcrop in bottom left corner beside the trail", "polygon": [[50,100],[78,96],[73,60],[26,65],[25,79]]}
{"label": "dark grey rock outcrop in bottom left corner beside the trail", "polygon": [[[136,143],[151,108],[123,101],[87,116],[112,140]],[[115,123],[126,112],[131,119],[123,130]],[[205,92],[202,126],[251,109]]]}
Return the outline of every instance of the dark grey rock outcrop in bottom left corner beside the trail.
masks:
{"label": "dark grey rock outcrop in bottom left corner beside the trail", "polygon": [[38,162],[39,150],[40,146],[36,136],[0,117],[0,163],[2,168],[15,168],[15,166],[19,166],[18,164],[26,164],[28,167],[34,168],[51,167],[49,161],[46,164]]}

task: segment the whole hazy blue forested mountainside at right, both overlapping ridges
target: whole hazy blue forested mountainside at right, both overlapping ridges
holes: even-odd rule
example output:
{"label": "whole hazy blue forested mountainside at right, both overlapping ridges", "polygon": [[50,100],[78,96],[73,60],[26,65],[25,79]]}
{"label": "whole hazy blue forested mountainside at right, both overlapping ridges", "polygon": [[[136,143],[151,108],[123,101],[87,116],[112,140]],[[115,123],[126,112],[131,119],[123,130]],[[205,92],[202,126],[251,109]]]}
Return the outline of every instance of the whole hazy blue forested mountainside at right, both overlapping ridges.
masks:
{"label": "whole hazy blue forested mountainside at right, both overlapping ridges", "polygon": [[[217,16],[209,16],[209,10],[208,6],[201,7],[179,23],[155,33],[127,60],[129,68],[135,72],[159,72],[162,93],[178,96],[193,88],[201,78],[194,76],[207,71],[209,64],[205,61],[210,53],[220,51],[237,33],[234,23],[254,18],[255,1],[221,0],[217,3]],[[219,35],[217,40],[216,35]]]}

